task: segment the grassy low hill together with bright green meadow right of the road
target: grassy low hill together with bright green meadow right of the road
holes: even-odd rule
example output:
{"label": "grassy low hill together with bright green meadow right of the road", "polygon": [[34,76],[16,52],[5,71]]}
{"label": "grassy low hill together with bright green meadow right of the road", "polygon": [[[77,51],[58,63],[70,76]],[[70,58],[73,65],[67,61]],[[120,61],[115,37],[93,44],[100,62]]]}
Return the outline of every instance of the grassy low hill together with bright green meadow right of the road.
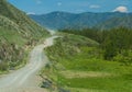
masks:
{"label": "grassy low hill together with bright green meadow right of the road", "polygon": [[56,44],[46,51],[52,64],[44,73],[58,87],[68,88],[72,92],[132,91],[132,68],[103,60],[102,51],[92,41],[66,35],[56,39]]}

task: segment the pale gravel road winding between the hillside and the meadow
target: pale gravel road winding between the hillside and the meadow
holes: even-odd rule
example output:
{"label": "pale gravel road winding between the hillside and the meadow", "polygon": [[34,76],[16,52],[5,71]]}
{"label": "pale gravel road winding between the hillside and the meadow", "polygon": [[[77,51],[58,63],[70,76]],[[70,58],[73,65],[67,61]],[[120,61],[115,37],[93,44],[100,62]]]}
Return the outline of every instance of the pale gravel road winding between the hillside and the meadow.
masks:
{"label": "pale gravel road winding between the hillside and the meadow", "polygon": [[35,46],[25,67],[1,77],[0,92],[46,92],[38,88],[37,72],[48,61],[43,49],[52,46],[56,37],[50,37],[44,44]]}

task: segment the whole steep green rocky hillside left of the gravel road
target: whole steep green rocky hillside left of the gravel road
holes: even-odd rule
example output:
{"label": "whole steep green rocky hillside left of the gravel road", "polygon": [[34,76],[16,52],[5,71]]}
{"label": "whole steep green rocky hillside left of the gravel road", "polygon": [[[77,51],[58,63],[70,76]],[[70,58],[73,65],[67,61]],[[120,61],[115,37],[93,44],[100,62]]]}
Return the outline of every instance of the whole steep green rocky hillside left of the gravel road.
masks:
{"label": "whole steep green rocky hillside left of the gravel road", "polygon": [[0,71],[25,61],[26,48],[48,32],[7,0],[0,0]]}

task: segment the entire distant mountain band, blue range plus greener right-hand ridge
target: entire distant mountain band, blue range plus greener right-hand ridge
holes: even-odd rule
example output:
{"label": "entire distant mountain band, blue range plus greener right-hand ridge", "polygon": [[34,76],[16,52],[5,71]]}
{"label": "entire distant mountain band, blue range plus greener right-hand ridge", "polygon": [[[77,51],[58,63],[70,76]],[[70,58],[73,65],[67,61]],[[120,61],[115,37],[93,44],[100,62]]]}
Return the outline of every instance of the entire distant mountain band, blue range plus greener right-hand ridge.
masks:
{"label": "entire distant mountain band, blue range plus greener right-hand ridge", "polygon": [[132,13],[105,12],[105,13],[68,13],[52,12],[47,14],[30,14],[34,21],[50,28],[112,28],[118,26],[132,27]]}

